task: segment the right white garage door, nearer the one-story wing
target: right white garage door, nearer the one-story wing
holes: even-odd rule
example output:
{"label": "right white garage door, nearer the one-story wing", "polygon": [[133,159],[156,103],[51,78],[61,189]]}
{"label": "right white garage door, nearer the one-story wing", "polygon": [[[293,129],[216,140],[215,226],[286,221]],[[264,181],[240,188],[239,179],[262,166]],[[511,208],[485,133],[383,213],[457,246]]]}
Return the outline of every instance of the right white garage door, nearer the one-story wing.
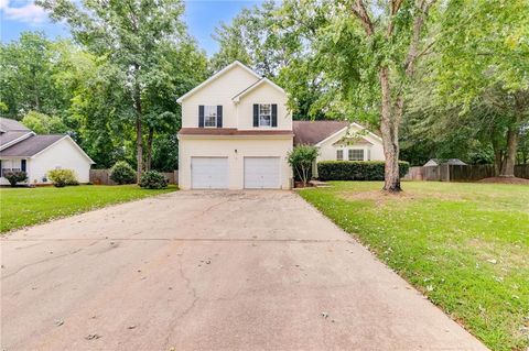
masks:
{"label": "right white garage door, nearer the one-story wing", "polygon": [[279,189],[280,169],[279,157],[245,157],[245,188]]}

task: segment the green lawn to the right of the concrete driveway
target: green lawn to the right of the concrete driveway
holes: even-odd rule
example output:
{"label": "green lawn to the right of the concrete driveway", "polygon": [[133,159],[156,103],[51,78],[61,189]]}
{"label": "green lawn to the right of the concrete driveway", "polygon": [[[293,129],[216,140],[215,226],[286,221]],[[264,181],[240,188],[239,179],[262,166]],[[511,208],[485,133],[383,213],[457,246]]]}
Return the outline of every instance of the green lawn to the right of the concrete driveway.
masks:
{"label": "green lawn to the right of the concrete driveway", "polygon": [[300,195],[493,350],[529,347],[529,187],[336,182]]}

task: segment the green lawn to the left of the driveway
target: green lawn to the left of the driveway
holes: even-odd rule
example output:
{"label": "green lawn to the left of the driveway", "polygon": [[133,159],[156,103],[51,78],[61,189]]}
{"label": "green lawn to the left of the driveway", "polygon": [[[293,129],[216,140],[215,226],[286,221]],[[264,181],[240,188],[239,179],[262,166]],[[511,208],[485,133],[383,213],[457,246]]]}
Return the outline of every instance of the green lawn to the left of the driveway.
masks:
{"label": "green lawn to the left of the driveway", "polygon": [[166,189],[150,190],[137,185],[2,188],[0,232],[176,189],[176,186],[170,186]]}

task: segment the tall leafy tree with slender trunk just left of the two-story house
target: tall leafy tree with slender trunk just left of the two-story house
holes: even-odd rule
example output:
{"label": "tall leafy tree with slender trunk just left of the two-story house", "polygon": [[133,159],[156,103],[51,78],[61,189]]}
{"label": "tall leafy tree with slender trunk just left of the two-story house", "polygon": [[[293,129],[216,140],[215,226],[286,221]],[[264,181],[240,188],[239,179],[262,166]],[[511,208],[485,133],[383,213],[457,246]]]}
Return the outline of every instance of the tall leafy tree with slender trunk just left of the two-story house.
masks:
{"label": "tall leafy tree with slender trunk just left of the two-story house", "polygon": [[53,20],[65,20],[76,41],[106,57],[123,79],[133,106],[138,178],[143,171],[143,95],[159,80],[165,47],[185,35],[180,0],[39,0]]}

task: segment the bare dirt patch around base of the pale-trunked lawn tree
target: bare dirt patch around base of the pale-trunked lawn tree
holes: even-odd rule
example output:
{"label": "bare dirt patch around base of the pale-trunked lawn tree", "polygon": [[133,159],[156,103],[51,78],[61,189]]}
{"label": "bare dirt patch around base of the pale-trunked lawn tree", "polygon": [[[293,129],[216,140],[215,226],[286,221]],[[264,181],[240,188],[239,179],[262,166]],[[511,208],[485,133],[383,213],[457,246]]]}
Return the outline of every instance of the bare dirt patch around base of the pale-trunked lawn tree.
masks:
{"label": "bare dirt patch around base of the pale-trunked lawn tree", "polygon": [[417,194],[410,191],[401,193],[386,193],[382,190],[370,190],[361,193],[342,193],[341,197],[346,200],[369,200],[374,201],[377,206],[385,205],[388,201],[408,202],[413,200],[421,200],[425,198],[438,198],[443,200],[461,200],[461,196],[455,194],[442,194],[442,193],[425,193]]}

